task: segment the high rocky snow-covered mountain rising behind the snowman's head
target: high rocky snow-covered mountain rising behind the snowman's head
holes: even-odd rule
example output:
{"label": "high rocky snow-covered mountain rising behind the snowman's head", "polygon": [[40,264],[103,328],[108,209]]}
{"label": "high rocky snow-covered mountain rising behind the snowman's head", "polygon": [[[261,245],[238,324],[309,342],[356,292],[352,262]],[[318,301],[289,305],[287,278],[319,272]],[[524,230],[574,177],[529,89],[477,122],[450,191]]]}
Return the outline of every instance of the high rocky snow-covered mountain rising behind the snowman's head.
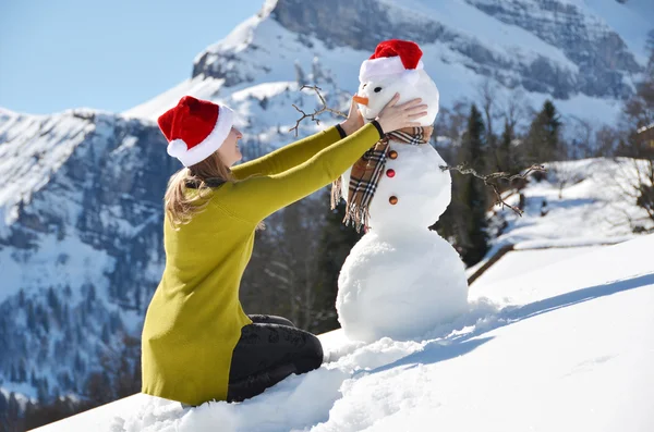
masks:
{"label": "high rocky snow-covered mountain rising behind the snowman's head", "polygon": [[[378,41],[403,38],[421,45],[445,107],[475,99],[489,78],[499,103],[520,91],[534,107],[554,98],[568,116],[610,123],[644,70],[652,15],[647,0],[270,0],[199,53],[190,79],[126,114],[155,119],[184,94],[240,107],[244,89],[270,99],[270,86],[295,76],[351,94]],[[281,120],[252,108],[239,111],[259,127]]]}

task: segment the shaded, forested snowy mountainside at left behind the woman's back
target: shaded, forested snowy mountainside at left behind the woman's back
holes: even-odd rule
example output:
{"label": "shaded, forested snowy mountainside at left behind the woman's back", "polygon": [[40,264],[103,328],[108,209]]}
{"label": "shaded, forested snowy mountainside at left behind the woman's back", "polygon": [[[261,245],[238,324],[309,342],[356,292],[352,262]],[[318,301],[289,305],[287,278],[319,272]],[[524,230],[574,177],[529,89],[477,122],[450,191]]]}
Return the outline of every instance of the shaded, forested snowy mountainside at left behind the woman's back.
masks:
{"label": "shaded, forested snowy mountainside at left behind the woman's back", "polygon": [[164,269],[165,144],[109,113],[0,113],[2,386],[80,392],[137,331]]}

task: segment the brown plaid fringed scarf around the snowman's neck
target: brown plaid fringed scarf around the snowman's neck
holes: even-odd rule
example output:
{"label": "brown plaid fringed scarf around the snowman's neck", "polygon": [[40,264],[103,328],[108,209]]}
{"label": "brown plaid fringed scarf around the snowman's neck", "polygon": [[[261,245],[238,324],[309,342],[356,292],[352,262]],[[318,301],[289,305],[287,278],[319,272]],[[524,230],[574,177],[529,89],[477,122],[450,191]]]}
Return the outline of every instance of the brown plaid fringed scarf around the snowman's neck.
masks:
{"label": "brown plaid fringed scarf around the snowman's neck", "polygon": [[[352,165],[348,190],[348,206],[346,207],[346,218],[343,219],[346,226],[352,222],[356,227],[356,232],[361,230],[362,225],[367,229],[367,221],[370,220],[368,208],[386,166],[389,140],[392,139],[393,141],[411,146],[420,146],[429,141],[433,131],[433,126],[424,126],[405,127],[390,132]],[[331,184],[331,210],[336,208],[341,197],[341,177],[338,177]]]}

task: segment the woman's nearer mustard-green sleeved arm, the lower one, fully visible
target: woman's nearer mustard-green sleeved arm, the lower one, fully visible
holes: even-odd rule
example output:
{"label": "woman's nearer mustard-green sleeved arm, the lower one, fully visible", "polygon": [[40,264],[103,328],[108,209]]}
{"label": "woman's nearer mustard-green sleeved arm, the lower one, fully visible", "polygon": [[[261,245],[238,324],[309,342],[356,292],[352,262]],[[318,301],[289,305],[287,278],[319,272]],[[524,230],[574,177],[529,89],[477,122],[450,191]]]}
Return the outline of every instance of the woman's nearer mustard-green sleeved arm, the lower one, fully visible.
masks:
{"label": "woman's nearer mustard-green sleeved arm, the lower one, fully visible", "polygon": [[217,194],[216,205],[233,215],[258,223],[334,182],[379,140],[383,136],[379,131],[380,127],[370,123],[280,174],[227,183]]}

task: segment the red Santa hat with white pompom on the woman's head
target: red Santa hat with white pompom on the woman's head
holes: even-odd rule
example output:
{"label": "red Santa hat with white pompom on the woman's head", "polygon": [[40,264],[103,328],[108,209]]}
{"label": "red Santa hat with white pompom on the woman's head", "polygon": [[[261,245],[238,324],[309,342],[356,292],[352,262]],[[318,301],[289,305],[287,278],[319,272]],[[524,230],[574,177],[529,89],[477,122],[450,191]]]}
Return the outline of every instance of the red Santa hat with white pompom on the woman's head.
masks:
{"label": "red Santa hat with white pompom on the woman's head", "polygon": [[159,116],[158,123],[168,139],[168,155],[191,166],[222,146],[233,118],[228,107],[184,96],[177,107]]}

